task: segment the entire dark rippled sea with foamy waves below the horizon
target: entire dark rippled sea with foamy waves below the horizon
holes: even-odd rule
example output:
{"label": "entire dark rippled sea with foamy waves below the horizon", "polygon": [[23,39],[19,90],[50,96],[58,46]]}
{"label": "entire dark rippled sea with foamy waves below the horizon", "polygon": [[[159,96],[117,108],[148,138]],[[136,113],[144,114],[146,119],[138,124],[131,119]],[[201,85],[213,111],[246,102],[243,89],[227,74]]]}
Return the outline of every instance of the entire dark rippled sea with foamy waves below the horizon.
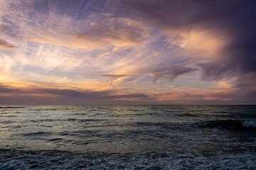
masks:
{"label": "entire dark rippled sea with foamy waves below the horizon", "polygon": [[256,106],[0,106],[0,169],[256,169]]}

